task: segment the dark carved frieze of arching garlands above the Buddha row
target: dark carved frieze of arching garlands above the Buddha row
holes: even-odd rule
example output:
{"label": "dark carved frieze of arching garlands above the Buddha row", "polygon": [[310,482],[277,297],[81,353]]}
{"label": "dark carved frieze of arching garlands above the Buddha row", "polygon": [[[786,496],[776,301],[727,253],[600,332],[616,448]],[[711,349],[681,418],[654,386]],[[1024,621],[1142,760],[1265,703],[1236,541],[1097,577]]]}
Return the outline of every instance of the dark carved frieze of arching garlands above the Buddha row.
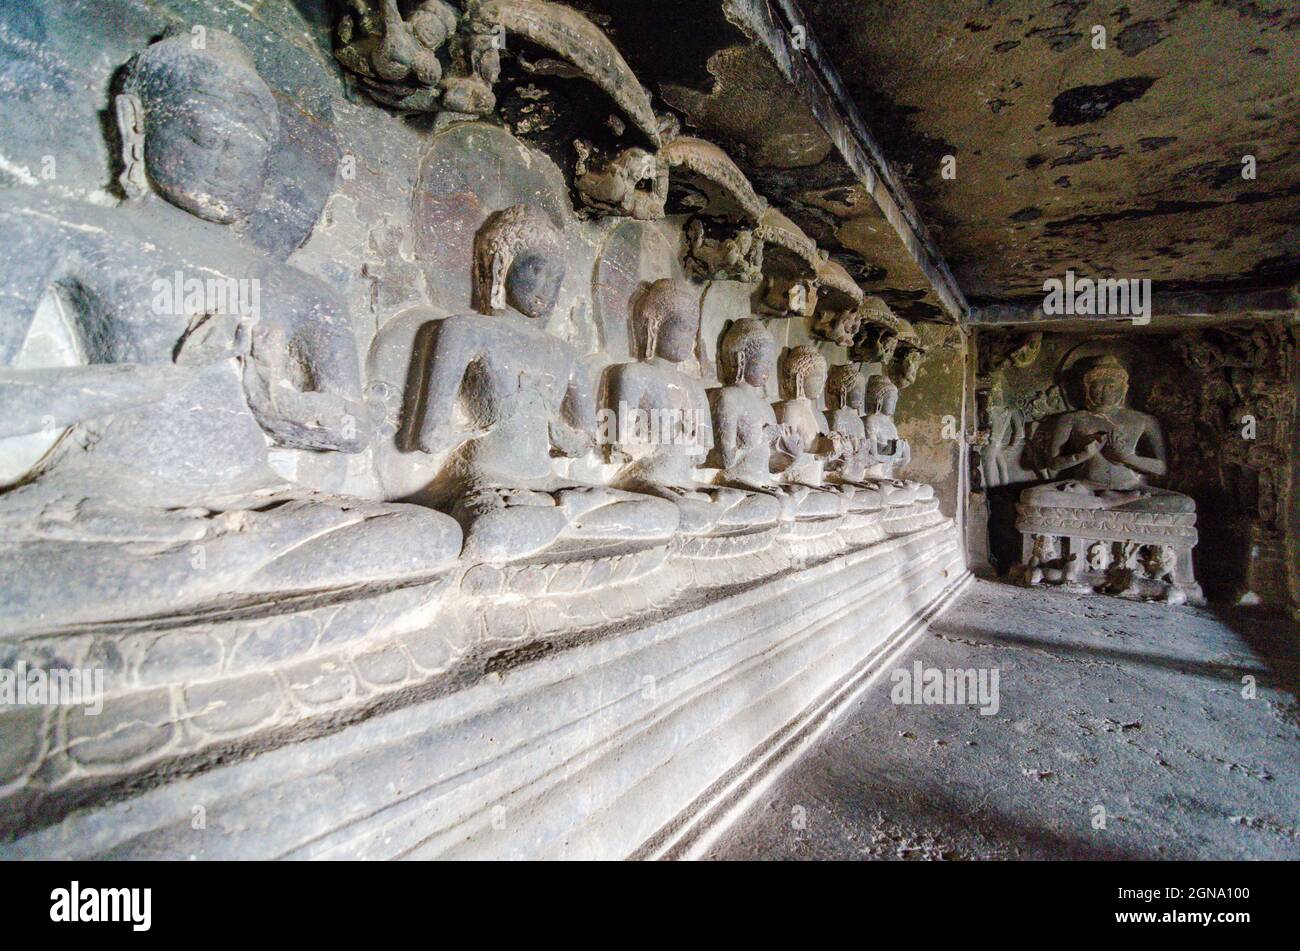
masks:
{"label": "dark carved frieze of arching garlands above the Buddha row", "polygon": [[689,213],[682,262],[694,278],[760,283],[764,316],[811,320],[814,336],[853,348],[857,360],[897,360],[900,386],[914,381],[926,351],[911,325],[771,207],[725,149],[656,114],[619,49],[578,10],[547,0],[420,0],[403,17],[395,0],[341,5],[334,53],[359,88],[396,112],[436,113],[442,127],[497,110],[503,60],[537,78],[516,40],[558,57],[547,75],[594,83],[623,116],[597,108],[599,121],[585,123],[592,140],[575,138],[572,165],[562,161],[581,217]]}

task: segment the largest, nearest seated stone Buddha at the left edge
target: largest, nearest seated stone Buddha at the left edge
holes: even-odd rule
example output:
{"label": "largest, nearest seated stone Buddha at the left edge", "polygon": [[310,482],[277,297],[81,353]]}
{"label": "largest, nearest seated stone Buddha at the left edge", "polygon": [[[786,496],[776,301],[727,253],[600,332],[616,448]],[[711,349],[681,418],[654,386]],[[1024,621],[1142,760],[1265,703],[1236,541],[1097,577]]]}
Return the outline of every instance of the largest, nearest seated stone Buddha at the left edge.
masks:
{"label": "largest, nearest seated stone Buddha at the left edge", "polygon": [[[247,51],[217,30],[202,49],[162,39],[131,61],[116,105],[126,204],[0,201],[16,252],[0,265],[13,290],[0,305],[5,359],[52,296],[79,357],[0,383],[16,416],[68,427],[0,504],[9,611],[47,624],[183,612],[448,565],[460,550],[451,518],[321,495],[272,468],[268,443],[352,453],[369,427],[338,295],[229,227],[257,205],[278,131]],[[228,294],[191,307],[173,287],[190,277]],[[75,570],[52,592],[60,560]]]}

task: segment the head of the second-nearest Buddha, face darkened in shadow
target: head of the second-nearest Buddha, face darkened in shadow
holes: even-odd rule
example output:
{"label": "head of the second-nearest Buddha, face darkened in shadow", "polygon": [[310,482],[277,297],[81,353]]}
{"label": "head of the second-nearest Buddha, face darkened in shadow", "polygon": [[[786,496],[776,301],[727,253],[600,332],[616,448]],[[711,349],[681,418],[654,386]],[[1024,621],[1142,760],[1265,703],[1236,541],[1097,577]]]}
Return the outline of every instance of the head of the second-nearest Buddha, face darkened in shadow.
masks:
{"label": "head of the second-nearest Buddha, face darkened in shadow", "polygon": [[511,205],[494,213],[474,236],[474,308],[499,314],[515,308],[547,317],[564,283],[564,240],[538,208]]}

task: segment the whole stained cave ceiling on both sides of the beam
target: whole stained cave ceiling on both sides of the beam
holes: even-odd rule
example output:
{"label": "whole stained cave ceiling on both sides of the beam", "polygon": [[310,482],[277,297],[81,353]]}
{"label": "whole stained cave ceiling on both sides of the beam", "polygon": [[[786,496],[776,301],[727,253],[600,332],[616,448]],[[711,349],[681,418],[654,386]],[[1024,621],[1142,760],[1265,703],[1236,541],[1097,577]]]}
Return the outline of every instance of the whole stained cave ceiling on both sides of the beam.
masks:
{"label": "whole stained cave ceiling on both sides of the beam", "polygon": [[[897,312],[944,318],[744,3],[589,0],[655,107]],[[754,4],[749,4],[753,6]],[[1157,295],[1294,286],[1300,6],[1144,0],[767,0],[796,10],[971,305],[1032,307],[1066,269]],[[1105,29],[1105,49],[1095,30]],[[744,27],[744,29],[742,29]],[[942,177],[945,156],[956,177]],[[1244,178],[1253,156],[1256,177]],[[962,301],[965,303],[965,301]],[[1010,305],[1008,308],[1008,305]],[[948,308],[949,312],[952,308]],[[950,313],[948,316],[952,316]]]}

